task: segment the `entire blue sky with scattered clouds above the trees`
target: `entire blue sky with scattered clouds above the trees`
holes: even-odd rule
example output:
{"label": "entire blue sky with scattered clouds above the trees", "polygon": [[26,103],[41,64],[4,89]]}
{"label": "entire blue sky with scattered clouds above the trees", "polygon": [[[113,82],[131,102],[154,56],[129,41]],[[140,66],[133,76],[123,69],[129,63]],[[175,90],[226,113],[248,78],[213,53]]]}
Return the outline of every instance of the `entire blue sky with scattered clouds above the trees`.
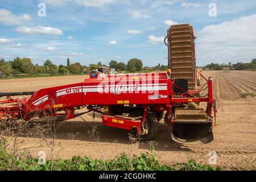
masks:
{"label": "entire blue sky with scattered clouds above the trees", "polygon": [[[39,3],[46,16],[38,16]],[[209,16],[209,4],[217,16]],[[256,1],[1,0],[0,58],[108,64],[133,57],[167,64],[163,38],[171,24],[191,23],[197,65],[249,62],[256,55]]]}

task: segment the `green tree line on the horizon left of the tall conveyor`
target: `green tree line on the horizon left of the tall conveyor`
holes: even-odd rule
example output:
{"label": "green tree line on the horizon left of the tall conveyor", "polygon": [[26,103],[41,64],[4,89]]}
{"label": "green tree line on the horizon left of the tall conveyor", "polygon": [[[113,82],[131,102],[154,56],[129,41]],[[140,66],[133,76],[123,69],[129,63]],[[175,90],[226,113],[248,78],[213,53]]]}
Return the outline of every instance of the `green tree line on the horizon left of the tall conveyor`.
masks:
{"label": "green tree line on the horizon left of the tall conveyor", "polygon": [[109,65],[102,64],[99,61],[97,64],[90,64],[88,67],[81,65],[79,62],[71,64],[69,58],[67,65],[53,64],[51,60],[47,59],[43,65],[33,64],[30,58],[16,57],[12,61],[0,59],[0,71],[6,76],[19,76],[19,75],[81,75],[89,73],[98,67],[109,67],[115,69],[117,72],[151,72],[151,71],[166,71],[166,65],[158,64],[155,67],[143,67],[143,63],[139,59],[130,59],[127,64],[112,60]]}

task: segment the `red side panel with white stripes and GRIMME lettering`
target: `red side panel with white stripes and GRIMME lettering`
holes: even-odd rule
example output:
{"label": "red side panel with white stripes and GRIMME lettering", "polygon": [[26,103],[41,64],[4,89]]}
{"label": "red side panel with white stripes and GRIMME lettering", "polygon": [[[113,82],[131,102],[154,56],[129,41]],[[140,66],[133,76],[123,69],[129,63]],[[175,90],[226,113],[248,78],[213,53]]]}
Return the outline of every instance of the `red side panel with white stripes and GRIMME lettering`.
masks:
{"label": "red side panel with white stripes and GRIMME lettering", "polygon": [[103,81],[85,80],[84,105],[166,104],[167,75],[134,74],[105,78]]}

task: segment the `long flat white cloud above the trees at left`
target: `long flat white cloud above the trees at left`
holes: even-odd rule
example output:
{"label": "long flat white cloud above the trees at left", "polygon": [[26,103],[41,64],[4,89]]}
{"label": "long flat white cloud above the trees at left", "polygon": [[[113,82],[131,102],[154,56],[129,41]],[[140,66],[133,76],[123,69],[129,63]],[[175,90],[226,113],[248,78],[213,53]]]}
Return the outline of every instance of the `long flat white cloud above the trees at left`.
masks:
{"label": "long flat white cloud above the trees at left", "polygon": [[44,34],[44,35],[63,35],[63,31],[59,28],[52,27],[18,27],[16,31],[22,34]]}

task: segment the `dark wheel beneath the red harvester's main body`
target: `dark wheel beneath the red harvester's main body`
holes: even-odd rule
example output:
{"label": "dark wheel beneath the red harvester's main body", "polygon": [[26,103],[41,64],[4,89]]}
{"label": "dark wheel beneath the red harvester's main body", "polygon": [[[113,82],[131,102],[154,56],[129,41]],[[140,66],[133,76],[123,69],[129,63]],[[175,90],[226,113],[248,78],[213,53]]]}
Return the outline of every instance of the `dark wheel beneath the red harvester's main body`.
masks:
{"label": "dark wheel beneath the red harvester's main body", "polygon": [[147,130],[147,134],[141,135],[140,140],[151,140],[155,137],[158,132],[158,119],[155,114],[147,114],[146,120],[144,122],[144,129]]}

